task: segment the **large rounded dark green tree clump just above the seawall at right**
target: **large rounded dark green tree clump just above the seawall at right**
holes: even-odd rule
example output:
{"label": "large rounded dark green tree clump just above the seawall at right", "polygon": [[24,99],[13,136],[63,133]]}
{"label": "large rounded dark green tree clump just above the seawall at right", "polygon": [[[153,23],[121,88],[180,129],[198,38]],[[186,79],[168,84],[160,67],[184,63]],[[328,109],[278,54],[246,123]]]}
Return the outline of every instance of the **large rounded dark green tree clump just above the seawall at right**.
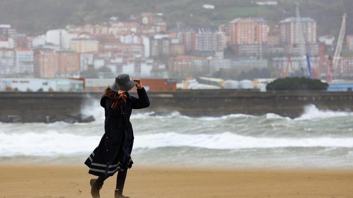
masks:
{"label": "large rounded dark green tree clump just above the seawall at right", "polygon": [[321,80],[305,77],[280,78],[268,83],[266,89],[270,90],[326,90],[329,84]]}

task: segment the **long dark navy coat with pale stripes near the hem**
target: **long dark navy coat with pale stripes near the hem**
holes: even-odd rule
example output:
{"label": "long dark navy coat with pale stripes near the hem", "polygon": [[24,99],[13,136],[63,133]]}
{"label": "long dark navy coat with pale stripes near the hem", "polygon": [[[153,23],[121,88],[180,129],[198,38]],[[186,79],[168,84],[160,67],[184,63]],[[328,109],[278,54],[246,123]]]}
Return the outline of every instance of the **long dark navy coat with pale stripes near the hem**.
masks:
{"label": "long dark navy coat with pale stripes near the hem", "polygon": [[[101,106],[105,110],[104,135],[85,161],[89,172],[96,176],[112,176],[116,171],[131,168],[133,162],[131,151],[133,146],[133,131],[130,123],[132,109],[142,109],[150,105],[146,90],[137,89],[138,98],[126,93],[126,103],[112,108],[113,100],[103,95]],[[119,99],[120,100],[120,99]]]}

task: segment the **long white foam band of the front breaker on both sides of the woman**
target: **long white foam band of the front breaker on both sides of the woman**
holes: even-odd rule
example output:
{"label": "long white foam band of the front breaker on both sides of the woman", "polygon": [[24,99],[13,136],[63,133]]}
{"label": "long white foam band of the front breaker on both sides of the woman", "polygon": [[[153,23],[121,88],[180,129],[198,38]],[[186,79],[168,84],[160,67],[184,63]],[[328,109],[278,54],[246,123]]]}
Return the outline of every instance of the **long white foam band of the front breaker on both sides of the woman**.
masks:
{"label": "long white foam band of the front breaker on both sides of the woman", "polygon": [[[0,132],[0,157],[16,155],[53,156],[89,153],[101,136],[84,136],[48,131],[6,134]],[[134,149],[161,147],[199,147],[208,149],[244,149],[279,147],[353,147],[353,137],[272,138],[223,132],[220,134],[178,134],[175,132],[135,135]]]}

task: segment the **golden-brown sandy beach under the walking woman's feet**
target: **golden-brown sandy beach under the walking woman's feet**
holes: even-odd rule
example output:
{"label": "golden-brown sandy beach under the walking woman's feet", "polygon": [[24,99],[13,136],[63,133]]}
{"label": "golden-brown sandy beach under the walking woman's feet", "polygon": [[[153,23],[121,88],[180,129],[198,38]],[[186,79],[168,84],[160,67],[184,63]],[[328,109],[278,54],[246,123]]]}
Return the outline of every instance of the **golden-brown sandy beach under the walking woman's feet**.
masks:
{"label": "golden-brown sandy beach under the walking woman's feet", "polygon": [[[90,196],[85,166],[0,165],[0,198]],[[114,197],[116,174],[101,197]],[[129,169],[124,189],[131,198],[149,197],[353,197],[353,170]]]}

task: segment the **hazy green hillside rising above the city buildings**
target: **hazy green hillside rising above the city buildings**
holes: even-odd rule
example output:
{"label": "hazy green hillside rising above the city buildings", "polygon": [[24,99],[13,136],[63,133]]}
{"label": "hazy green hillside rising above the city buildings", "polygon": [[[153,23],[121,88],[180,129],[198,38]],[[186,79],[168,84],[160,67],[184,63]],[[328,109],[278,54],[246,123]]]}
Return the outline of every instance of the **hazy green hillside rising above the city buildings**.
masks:
{"label": "hazy green hillside rising above the city buildings", "polygon": [[[298,0],[301,15],[318,23],[318,35],[337,35],[342,14],[347,12],[347,33],[353,33],[352,0]],[[205,10],[203,4],[215,5]],[[277,6],[258,6],[248,0],[1,0],[0,23],[11,24],[19,32],[37,35],[67,24],[102,23],[111,16],[127,20],[141,11],[162,12],[168,27],[180,21],[184,25],[218,25],[236,17],[256,16],[269,20],[271,27],[283,18],[295,15],[294,0],[279,0]]]}

